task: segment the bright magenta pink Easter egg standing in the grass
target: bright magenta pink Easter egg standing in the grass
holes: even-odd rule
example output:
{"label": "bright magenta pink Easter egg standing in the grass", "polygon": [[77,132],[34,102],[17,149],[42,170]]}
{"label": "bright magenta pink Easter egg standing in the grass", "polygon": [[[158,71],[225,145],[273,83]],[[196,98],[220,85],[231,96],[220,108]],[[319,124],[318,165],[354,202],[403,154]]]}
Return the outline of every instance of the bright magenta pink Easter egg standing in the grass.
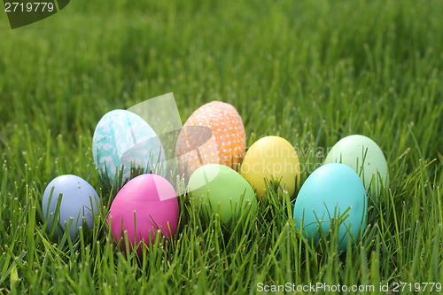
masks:
{"label": "bright magenta pink Easter egg standing in the grass", "polygon": [[[117,196],[108,216],[113,237],[119,242],[127,231],[129,250],[142,240],[150,245],[158,230],[172,237],[178,225],[179,210],[171,183],[159,175],[138,175],[127,182]],[[141,253],[141,247],[137,249]]]}

